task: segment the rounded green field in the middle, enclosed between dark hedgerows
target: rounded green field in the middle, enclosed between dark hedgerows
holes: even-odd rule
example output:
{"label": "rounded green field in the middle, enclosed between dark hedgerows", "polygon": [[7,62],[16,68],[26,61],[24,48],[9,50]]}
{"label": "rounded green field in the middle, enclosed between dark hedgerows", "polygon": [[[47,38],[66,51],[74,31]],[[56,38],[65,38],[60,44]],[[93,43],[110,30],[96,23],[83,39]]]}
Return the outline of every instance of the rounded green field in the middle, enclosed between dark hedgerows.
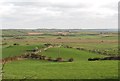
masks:
{"label": "rounded green field in the middle, enclosed between dark hedgerows", "polygon": [[[60,51],[60,53],[59,53]],[[64,59],[68,58],[75,58],[75,61],[79,60],[86,60],[88,58],[93,58],[93,57],[102,57],[103,55],[97,55],[85,51],[79,51],[76,49],[70,49],[70,48],[50,48],[47,51],[43,52],[43,55],[52,57],[52,58],[57,58],[57,57],[62,57]]]}

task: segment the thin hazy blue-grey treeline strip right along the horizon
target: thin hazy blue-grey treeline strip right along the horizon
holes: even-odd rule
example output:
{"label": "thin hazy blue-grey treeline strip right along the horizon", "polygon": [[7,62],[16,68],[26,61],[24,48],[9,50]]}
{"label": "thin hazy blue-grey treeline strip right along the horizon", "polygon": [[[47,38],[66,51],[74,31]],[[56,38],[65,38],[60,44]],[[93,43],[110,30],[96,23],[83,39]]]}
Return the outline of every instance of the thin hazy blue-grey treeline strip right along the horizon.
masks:
{"label": "thin hazy blue-grey treeline strip right along the horizon", "polygon": [[118,29],[2,29],[2,31],[19,32],[118,32]]}

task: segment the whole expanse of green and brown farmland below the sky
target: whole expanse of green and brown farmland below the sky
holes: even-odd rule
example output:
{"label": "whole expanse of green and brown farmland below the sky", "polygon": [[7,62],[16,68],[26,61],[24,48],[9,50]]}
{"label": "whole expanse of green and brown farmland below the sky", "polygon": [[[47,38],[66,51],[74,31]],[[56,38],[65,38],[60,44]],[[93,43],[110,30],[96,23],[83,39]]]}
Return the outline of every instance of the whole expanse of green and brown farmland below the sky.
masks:
{"label": "whole expanse of green and brown farmland below the sky", "polygon": [[[88,61],[89,58],[119,56],[117,32],[71,30],[64,35],[65,30],[61,30],[62,34],[56,34],[59,30],[34,30],[44,34],[27,35],[31,31],[3,30],[2,59],[31,54],[27,50],[37,47],[37,55],[54,60],[62,58],[63,61],[13,60],[3,68],[4,79],[118,79],[118,60]],[[68,62],[70,58],[73,58],[72,62]]]}

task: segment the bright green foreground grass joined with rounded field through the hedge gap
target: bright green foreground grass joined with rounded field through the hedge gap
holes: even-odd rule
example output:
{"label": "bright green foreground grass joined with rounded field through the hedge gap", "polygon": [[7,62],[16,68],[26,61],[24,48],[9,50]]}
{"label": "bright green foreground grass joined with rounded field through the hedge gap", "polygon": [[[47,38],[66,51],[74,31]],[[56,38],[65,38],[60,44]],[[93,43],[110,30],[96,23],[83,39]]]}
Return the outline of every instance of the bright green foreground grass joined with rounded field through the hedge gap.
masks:
{"label": "bright green foreground grass joined with rounded field through the hedge gap", "polygon": [[[42,54],[58,57],[58,48],[50,48]],[[75,49],[60,48],[59,57],[73,57],[74,62],[48,62],[43,60],[21,60],[7,63],[6,79],[110,79],[118,77],[118,61],[87,61],[89,57],[102,55]],[[16,68],[16,69],[15,69]]]}

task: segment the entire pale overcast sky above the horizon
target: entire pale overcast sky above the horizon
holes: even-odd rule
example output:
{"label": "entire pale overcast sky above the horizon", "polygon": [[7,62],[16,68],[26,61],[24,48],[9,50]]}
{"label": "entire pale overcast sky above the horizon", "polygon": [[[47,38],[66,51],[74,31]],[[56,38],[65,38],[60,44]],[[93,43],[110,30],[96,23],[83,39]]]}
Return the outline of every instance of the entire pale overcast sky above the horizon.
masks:
{"label": "entire pale overcast sky above the horizon", "polygon": [[117,29],[119,0],[0,0],[2,29]]}

